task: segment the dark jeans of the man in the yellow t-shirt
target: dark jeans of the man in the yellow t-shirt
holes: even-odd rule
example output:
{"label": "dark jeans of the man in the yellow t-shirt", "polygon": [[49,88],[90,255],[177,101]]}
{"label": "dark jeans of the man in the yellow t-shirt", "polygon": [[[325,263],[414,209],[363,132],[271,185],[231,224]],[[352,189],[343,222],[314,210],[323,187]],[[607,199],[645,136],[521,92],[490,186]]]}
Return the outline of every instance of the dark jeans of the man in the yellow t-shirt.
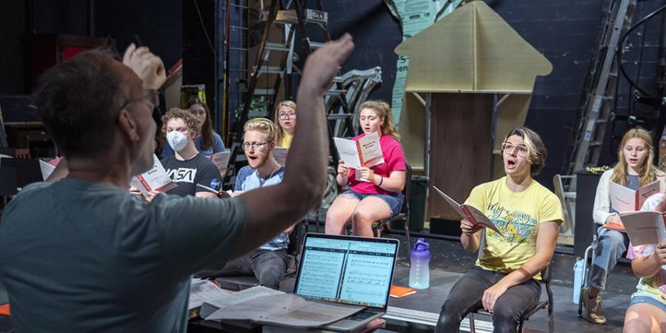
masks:
{"label": "dark jeans of the man in the yellow t-shirt", "polygon": [[[442,305],[437,333],[459,332],[460,322],[468,313],[483,308],[481,298],[485,289],[495,285],[506,273],[483,270],[474,266],[454,284],[447,300]],[[507,289],[495,302],[492,313],[492,332],[515,333],[520,319],[532,310],[541,296],[541,282],[529,279]]]}

